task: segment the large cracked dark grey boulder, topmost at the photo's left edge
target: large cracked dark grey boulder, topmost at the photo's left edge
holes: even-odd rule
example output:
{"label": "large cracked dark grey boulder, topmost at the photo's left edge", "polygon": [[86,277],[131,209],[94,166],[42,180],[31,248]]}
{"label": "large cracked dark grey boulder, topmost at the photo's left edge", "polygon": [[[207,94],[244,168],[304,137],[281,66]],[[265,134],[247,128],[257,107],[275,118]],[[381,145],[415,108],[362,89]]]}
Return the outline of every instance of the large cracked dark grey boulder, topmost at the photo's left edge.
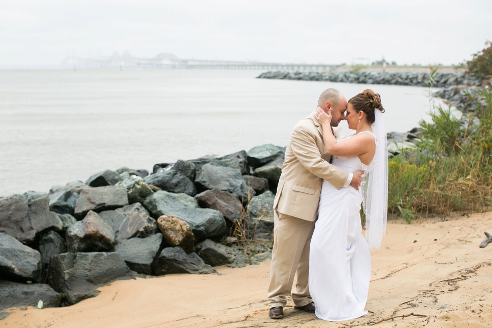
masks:
{"label": "large cracked dark grey boulder, topmost at the photo's left edge", "polygon": [[62,230],[62,222],[50,211],[48,194],[28,191],[0,198],[0,232],[32,244],[45,230]]}

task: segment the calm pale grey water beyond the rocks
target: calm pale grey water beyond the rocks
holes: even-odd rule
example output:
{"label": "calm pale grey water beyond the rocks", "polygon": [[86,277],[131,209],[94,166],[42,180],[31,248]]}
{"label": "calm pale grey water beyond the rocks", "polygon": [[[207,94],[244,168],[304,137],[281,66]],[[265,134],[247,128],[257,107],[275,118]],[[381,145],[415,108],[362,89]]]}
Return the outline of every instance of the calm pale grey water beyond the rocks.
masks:
{"label": "calm pale grey water beyond the rocks", "polygon": [[260,73],[0,71],[0,196],[121,166],[151,171],[155,163],[285,146],[329,87],[347,98],[367,87],[379,92],[390,131],[412,129],[429,109],[422,87],[255,79]]}

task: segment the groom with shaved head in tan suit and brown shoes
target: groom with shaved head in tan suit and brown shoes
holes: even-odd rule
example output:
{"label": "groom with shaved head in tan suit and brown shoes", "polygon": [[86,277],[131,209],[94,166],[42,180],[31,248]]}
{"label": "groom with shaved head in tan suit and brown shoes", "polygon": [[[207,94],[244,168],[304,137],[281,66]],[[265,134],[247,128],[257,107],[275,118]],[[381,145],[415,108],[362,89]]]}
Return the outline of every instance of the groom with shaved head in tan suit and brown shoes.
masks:
{"label": "groom with shaved head in tan suit and brown shoes", "polygon": [[[327,89],[318,100],[326,113],[331,108],[331,126],[345,119],[347,100],[336,89]],[[323,144],[321,125],[310,116],[301,120],[292,131],[282,166],[274,207],[274,245],[270,269],[269,316],[284,317],[283,307],[291,294],[297,272],[296,291],[292,293],[294,308],[314,312],[309,294],[309,245],[318,216],[321,183],[328,180],[336,188],[352,185],[358,189],[362,172],[349,173],[329,163],[331,155]]]}

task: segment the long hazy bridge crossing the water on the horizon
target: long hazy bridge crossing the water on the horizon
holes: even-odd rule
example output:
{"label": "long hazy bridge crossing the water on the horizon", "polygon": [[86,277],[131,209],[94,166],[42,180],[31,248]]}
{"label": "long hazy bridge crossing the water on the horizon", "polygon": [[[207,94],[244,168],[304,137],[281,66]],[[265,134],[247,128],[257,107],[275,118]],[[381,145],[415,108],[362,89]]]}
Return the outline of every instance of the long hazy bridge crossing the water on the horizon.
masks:
{"label": "long hazy bridge crossing the water on the horizon", "polygon": [[155,58],[138,58],[126,53],[110,57],[69,57],[62,65],[82,69],[97,68],[180,68],[180,69],[259,69],[284,71],[326,71],[340,65],[273,63],[259,61],[196,60],[179,59],[173,54],[160,54]]}

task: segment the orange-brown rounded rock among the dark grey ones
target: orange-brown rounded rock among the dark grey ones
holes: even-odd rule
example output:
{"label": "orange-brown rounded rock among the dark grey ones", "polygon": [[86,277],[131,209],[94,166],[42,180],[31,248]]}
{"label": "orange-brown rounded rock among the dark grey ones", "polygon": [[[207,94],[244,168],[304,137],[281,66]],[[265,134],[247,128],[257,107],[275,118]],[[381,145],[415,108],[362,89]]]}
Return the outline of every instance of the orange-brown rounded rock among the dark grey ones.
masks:
{"label": "orange-brown rounded rock among the dark grey ones", "polygon": [[174,215],[162,215],[157,225],[170,246],[179,246],[187,254],[195,251],[195,236],[185,221]]}

